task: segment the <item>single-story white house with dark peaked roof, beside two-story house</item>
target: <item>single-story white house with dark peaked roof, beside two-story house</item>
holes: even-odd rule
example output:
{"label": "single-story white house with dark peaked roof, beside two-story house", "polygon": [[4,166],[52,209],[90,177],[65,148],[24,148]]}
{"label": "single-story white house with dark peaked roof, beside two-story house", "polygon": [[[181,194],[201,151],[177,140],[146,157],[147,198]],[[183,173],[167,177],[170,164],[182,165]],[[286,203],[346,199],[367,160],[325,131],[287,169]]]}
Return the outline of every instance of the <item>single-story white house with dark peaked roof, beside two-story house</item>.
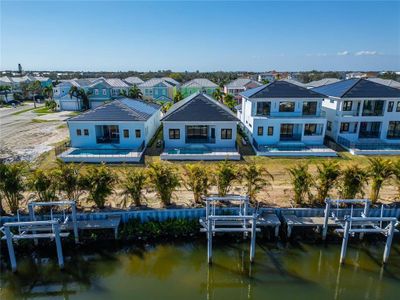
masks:
{"label": "single-story white house with dark peaked roof, beside two-story house", "polygon": [[238,119],[205,93],[175,103],[161,119],[167,160],[239,160]]}

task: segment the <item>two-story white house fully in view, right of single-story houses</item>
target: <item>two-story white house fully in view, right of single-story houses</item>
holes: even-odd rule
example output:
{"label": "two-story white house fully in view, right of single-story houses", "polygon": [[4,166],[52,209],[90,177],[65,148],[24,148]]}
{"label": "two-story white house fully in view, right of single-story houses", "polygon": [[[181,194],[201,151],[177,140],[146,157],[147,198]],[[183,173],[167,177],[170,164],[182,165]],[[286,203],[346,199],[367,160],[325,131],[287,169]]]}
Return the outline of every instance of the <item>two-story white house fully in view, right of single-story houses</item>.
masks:
{"label": "two-story white house fully in view, right of single-story houses", "polygon": [[287,81],[274,81],[242,94],[238,116],[257,155],[335,156],[323,146],[324,96]]}

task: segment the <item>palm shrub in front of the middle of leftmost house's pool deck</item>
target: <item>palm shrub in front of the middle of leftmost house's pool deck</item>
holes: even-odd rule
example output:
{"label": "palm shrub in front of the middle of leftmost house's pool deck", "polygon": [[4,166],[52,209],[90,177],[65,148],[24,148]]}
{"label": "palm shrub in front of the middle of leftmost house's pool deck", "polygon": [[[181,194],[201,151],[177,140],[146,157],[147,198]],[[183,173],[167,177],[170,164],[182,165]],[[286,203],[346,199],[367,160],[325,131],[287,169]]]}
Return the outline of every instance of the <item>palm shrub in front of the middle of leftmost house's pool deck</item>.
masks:
{"label": "palm shrub in front of the middle of leftmost house's pool deck", "polygon": [[90,166],[82,179],[83,186],[89,193],[88,200],[93,201],[98,208],[104,208],[116,180],[116,176],[106,165]]}

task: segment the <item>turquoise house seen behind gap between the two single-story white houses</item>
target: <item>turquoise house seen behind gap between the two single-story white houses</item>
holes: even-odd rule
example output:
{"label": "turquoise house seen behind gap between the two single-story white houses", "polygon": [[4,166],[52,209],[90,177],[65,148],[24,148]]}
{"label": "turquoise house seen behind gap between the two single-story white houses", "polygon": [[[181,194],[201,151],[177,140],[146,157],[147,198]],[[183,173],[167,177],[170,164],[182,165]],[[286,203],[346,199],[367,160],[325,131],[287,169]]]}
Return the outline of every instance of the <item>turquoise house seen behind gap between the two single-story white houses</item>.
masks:
{"label": "turquoise house seen behind gap between the two single-story white houses", "polygon": [[172,78],[152,78],[138,85],[144,99],[169,102],[173,100],[174,92],[179,82]]}

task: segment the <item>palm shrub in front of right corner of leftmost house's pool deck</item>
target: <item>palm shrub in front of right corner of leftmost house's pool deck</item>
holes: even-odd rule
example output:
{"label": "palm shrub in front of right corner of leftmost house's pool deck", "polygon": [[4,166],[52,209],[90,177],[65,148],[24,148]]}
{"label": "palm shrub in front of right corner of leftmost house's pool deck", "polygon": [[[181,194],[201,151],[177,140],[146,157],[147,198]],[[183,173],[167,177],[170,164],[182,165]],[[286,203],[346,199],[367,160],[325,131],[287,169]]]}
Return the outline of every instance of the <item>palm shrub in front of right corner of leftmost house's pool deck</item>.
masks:
{"label": "palm shrub in front of right corner of leftmost house's pool deck", "polygon": [[136,206],[141,206],[142,190],[146,182],[146,172],[142,168],[131,168],[125,172],[122,182],[122,194],[125,196],[123,206],[126,207],[126,198],[130,197]]}

